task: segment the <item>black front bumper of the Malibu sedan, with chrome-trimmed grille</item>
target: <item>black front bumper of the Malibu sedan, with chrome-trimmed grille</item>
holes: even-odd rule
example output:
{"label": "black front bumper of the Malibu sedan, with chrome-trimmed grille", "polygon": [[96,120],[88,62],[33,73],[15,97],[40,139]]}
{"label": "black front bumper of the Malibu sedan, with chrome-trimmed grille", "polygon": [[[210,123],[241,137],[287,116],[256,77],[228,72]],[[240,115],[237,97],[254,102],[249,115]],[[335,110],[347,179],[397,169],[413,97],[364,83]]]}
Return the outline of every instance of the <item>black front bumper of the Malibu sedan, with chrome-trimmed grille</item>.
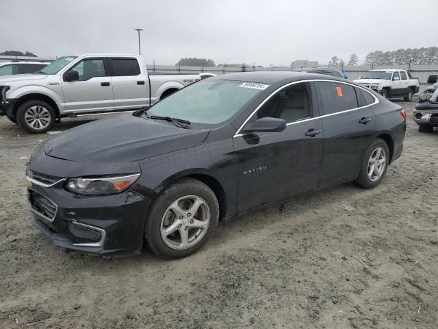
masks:
{"label": "black front bumper of the Malibu sedan, with chrome-trimmed grille", "polygon": [[151,200],[133,191],[81,196],[28,182],[33,225],[59,247],[90,254],[133,252],[142,248],[144,221]]}

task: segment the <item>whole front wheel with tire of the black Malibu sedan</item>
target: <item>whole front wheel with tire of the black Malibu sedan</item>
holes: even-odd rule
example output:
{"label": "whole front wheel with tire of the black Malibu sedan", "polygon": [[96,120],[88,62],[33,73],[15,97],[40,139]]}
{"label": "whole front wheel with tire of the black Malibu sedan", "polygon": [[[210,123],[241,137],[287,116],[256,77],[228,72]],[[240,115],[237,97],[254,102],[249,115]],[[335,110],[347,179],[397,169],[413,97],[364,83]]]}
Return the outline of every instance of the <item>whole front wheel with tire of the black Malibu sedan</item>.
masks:
{"label": "whole front wheel with tire of the black Malibu sedan", "polygon": [[[195,201],[200,206],[192,214],[190,208]],[[157,256],[183,258],[207,242],[218,220],[219,204],[214,192],[203,182],[183,178],[166,187],[153,202],[144,237]],[[183,239],[184,235],[187,239]]]}

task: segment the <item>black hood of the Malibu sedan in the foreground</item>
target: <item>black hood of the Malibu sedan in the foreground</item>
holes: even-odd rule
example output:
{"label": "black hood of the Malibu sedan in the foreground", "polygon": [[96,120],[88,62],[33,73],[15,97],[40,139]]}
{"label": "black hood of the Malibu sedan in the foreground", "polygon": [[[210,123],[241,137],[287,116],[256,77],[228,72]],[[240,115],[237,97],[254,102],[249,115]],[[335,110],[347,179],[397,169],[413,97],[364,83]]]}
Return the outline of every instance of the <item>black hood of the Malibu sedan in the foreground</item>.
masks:
{"label": "black hood of the Malibu sedan in the foreground", "polygon": [[120,114],[75,127],[44,145],[48,156],[75,162],[129,162],[185,149],[205,141],[209,130]]}

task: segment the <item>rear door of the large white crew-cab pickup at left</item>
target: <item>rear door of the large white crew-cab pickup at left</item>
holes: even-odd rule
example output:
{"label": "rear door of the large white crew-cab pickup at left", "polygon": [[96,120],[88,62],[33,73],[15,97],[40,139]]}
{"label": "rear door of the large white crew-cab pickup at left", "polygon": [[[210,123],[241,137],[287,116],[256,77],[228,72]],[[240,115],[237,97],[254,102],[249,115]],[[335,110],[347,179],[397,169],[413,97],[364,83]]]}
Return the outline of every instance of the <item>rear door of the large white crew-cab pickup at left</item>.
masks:
{"label": "rear door of the large white crew-cab pickup at left", "polygon": [[114,109],[149,105],[149,80],[135,57],[110,58]]}

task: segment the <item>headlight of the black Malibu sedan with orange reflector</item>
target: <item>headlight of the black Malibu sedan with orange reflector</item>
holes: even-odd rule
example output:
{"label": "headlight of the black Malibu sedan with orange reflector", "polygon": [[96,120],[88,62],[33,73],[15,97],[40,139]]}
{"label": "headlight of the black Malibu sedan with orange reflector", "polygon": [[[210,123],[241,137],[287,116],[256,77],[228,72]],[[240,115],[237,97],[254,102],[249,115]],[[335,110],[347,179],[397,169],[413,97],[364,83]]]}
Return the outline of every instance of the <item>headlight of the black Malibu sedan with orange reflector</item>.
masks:
{"label": "headlight of the black Malibu sedan with orange reflector", "polygon": [[66,189],[81,195],[105,195],[126,191],[140,177],[140,173],[113,177],[70,178]]}

